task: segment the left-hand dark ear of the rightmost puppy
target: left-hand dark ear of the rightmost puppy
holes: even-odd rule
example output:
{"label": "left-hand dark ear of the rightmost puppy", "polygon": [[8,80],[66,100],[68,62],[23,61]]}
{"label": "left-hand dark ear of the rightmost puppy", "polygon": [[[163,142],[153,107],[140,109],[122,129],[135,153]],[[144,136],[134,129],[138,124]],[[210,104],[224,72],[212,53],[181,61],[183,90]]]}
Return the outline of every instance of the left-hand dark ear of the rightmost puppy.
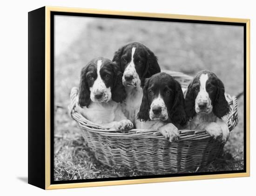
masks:
{"label": "left-hand dark ear of the rightmost puppy", "polygon": [[193,91],[193,81],[189,84],[185,97],[185,113],[188,119],[195,116],[195,97]]}

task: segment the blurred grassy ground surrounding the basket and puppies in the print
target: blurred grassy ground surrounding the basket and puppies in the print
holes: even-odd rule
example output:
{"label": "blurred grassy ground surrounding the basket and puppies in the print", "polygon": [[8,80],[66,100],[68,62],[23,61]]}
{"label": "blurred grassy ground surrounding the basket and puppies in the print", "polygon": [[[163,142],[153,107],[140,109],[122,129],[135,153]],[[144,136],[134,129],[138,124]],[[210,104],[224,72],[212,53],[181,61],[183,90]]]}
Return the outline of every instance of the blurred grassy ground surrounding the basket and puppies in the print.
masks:
{"label": "blurred grassy ground surrounding the basket and puppies in the print", "polygon": [[[158,57],[162,70],[195,76],[208,69],[222,80],[228,94],[243,92],[241,26],[70,16],[55,16],[54,25],[55,180],[152,175],[100,164],[67,113],[70,90],[78,86],[81,68],[95,57],[112,60],[115,51],[127,42],[145,44]],[[199,171],[243,169],[243,109],[242,95],[238,100],[239,123],[222,157]]]}

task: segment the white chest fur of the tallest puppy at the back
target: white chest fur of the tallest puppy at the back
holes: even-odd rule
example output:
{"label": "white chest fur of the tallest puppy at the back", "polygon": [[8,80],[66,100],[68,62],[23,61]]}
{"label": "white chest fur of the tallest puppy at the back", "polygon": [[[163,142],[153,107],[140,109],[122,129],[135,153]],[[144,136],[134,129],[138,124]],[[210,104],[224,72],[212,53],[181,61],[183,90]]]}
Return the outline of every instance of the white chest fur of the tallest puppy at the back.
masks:
{"label": "white chest fur of the tallest puppy at the back", "polygon": [[134,87],[125,87],[127,92],[126,100],[121,104],[122,112],[124,115],[135,123],[137,114],[141,107],[141,100],[143,96],[143,91],[140,86]]}

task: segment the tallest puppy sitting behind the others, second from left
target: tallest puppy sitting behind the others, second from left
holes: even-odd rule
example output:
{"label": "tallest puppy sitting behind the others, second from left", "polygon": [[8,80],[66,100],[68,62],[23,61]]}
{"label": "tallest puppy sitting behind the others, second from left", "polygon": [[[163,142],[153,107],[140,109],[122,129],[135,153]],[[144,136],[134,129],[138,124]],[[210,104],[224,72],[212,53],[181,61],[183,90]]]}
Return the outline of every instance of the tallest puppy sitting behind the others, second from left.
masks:
{"label": "tallest puppy sitting behind the others, second from left", "polygon": [[136,115],[143,95],[141,86],[145,78],[161,71],[157,57],[145,45],[132,42],[115,52],[113,62],[116,62],[123,72],[122,83],[127,93],[125,101],[121,104],[122,111],[129,120],[136,124],[138,121]]}

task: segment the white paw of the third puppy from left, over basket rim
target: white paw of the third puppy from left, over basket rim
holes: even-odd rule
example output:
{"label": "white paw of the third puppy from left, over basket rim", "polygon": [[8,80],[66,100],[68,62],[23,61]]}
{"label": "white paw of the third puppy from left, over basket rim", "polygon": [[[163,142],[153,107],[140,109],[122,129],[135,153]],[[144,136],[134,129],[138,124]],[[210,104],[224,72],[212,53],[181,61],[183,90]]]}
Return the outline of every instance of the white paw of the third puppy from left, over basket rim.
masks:
{"label": "white paw of the third puppy from left, over basket rim", "polygon": [[163,137],[168,139],[170,142],[180,137],[178,128],[172,123],[161,126],[158,130],[160,131],[160,133],[162,133]]}

